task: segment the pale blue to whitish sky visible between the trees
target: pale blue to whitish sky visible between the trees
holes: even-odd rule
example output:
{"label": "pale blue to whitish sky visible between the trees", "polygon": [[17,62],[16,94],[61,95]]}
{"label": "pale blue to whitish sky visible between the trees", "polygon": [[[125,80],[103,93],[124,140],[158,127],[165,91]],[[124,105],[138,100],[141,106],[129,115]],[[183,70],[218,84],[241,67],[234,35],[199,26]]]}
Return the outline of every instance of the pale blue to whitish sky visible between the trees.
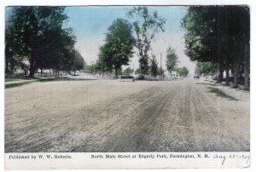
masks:
{"label": "pale blue to whitish sky visible between the trees", "polygon": [[[69,17],[66,25],[73,28],[73,32],[77,37],[76,49],[84,57],[87,64],[96,62],[99,53],[99,47],[104,44],[108,26],[113,20],[123,18],[131,20],[127,16],[130,6],[83,6],[83,7],[67,7],[66,13]],[[165,32],[155,35],[152,42],[152,53],[156,55],[160,66],[160,54],[162,54],[162,67],[166,69],[166,49],[171,46],[176,49],[178,56],[178,67],[186,66],[190,74],[194,74],[195,63],[189,60],[184,54],[185,31],[181,27],[181,20],[187,12],[186,7],[178,6],[152,6],[148,7],[149,12],[157,11],[157,13],[166,19]],[[150,53],[151,54],[151,53]],[[130,67],[137,69],[138,57],[134,54],[131,59]],[[128,67],[128,66],[126,66]],[[125,68],[125,67],[124,67]]]}

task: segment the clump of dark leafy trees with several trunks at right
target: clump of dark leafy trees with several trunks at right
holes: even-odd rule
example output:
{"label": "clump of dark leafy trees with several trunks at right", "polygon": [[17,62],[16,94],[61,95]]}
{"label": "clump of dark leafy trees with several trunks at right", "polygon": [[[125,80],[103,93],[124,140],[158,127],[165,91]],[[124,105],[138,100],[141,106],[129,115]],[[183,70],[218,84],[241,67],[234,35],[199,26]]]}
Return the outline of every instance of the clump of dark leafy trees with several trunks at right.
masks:
{"label": "clump of dark leafy trees with several trunks at right", "polygon": [[[186,54],[190,60],[218,63],[218,82],[224,70],[234,72],[234,87],[244,68],[248,87],[250,13],[247,6],[190,7],[183,18]],[[228,83],[229,75],[226,77]]]}

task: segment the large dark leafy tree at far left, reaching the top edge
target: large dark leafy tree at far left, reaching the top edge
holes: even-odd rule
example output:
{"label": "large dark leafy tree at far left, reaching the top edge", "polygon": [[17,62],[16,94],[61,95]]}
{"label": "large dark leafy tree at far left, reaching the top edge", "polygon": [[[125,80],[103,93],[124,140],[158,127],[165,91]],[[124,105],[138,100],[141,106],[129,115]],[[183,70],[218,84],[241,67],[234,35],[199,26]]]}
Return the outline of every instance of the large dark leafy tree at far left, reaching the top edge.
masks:
{"label": "large dark leafy tree at far left, reaching the top edge", "polygon": [[14,56],[26,57],[30,77],[38,68],[52,67],[60,70],[64,62],[71,61],[75,37],[71,29],[64,29],[67,20],[64,7],[13,7],[9,34],[16,41],[9,49]]}

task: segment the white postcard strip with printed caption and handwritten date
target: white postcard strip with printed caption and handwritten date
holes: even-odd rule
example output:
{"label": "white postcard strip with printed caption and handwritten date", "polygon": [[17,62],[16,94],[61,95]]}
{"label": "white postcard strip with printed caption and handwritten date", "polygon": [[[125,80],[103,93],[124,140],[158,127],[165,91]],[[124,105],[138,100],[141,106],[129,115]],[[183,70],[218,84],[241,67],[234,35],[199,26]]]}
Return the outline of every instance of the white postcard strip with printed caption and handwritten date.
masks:
{"label": "white postcard strip with printed caption and handwritten date", "polygon": [[5,169],[247,168],[250,152],[5,153]]}

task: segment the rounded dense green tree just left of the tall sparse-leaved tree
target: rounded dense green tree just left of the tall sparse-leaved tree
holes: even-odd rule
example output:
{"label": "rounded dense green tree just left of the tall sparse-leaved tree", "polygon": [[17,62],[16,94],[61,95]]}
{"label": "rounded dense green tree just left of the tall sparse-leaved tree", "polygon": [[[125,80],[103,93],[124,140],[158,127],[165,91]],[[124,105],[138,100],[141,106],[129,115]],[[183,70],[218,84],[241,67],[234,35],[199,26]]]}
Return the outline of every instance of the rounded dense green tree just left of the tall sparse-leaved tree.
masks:
{"label": "rounded dense green tree just left of the tall sparse-leaved tree", "polygon": [[134,38],[132,37],[131,24],[127,20],[117,19],[108,27],[106,43],[100,48],[99,60],[104,70],[115,75],[121,66],[128,65],[133,54]]}

